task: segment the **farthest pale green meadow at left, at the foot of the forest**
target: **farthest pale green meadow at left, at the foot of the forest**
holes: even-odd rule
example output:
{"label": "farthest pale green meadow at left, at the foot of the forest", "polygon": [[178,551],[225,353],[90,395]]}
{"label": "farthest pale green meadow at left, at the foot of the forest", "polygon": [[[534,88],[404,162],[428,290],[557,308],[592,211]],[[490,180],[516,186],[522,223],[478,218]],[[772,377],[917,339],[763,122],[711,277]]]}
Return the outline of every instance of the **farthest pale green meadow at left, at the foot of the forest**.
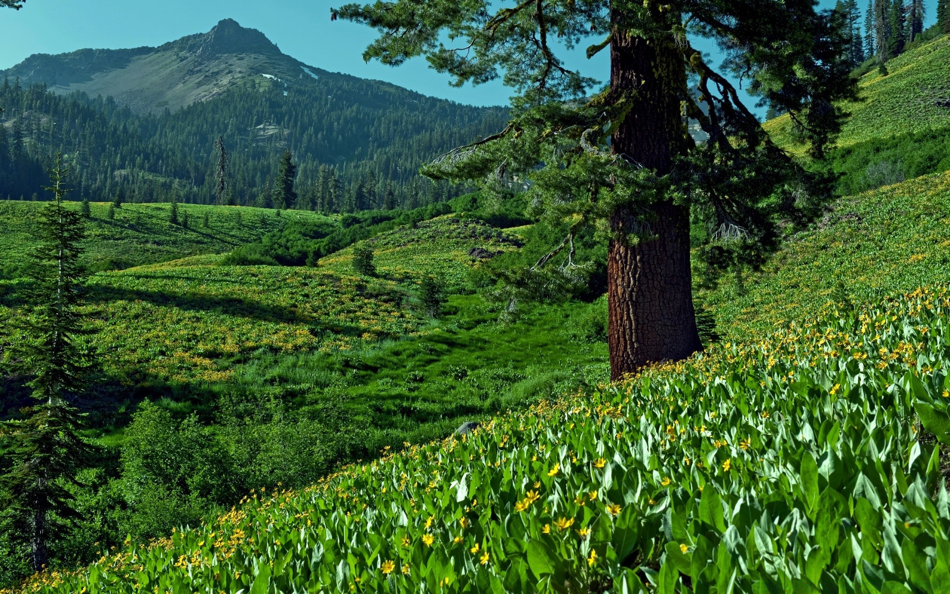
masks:
{"label": "farthest pale green meadow at left, at the foot of the forest", "polygon": [[[45,202],[0,201],[0,275],[11,278],[20,270],[36,212]],[[78,202],[72,203],[77,210]],[[187,228],[170,222],[171,204],[123,204],[108,220],[107,202],[90,203],[85,258],[93,270],[113,270],[203,254],[222,254],[238,245],[260,240],[277,228],[276,211],[246,206],[179,204]],[[208,224],[204,218],[207,215]],[[321,215],[294,211],[285,217],[325,220]]]}

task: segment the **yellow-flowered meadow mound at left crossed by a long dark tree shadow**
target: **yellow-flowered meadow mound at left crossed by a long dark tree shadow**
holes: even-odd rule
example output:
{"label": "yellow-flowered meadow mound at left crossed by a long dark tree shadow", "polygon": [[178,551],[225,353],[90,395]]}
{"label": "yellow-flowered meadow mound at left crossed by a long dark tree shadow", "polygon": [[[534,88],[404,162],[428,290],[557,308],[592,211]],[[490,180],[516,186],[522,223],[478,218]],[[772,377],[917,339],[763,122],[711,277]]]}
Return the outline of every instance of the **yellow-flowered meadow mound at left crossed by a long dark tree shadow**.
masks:
{"label": "yellow-flowered meadow mound at left crossed by a long dark tree shadow", "polygon": [[89,284],[105,369],[146,382],[219,381],[232,373],[220,357],[349,349],[421,322],[400,307],[394,283],[369,292],[360,278],[313,268],[171,262]]}

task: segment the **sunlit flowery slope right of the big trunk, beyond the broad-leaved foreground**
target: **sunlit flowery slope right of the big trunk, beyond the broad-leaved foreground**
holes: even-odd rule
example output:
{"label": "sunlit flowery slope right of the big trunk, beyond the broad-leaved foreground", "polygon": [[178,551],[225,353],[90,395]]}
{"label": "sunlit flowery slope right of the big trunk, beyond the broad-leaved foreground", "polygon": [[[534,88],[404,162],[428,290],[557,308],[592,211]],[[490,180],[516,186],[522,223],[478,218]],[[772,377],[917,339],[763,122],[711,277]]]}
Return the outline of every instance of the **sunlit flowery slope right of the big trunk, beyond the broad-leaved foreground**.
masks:
{"label": "sunlit flowery slope right of the big trunk, beyond the broad-leaved foreground", "polygon": [[843,297],[863,303],[950,282],[950,173],[841,199],[763,270],[723,278],[696,299],[735,337],[813,318]]}

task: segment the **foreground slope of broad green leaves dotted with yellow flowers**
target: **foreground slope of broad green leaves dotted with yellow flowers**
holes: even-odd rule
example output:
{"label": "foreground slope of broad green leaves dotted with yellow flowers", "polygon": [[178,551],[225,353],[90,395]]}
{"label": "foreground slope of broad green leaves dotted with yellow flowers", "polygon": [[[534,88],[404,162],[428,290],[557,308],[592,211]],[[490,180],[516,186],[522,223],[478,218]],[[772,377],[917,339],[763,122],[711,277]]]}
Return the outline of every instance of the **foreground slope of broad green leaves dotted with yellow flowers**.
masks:
{"label": "foreground slope of broad green leaves dotted with yellow flowers", "polygon": [[913,421],[950,442],[948,316],[922,289],[719,344],[25,591],[941,591],[950,497]]}

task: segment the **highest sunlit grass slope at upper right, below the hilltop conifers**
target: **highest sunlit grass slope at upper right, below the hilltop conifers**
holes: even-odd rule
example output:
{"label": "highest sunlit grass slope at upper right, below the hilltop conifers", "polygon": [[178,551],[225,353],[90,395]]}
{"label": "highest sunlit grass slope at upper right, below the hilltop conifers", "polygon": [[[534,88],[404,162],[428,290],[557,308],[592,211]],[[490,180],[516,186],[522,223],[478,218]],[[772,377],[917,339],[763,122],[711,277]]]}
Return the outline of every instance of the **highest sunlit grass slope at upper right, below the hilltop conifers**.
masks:
{"label": "highest sunlit grass slope at upper right, below the hilltop conifers", "polygon": [[[889,74],[872,69],[859,82],[862,101],[845,105],[850,117],[838,145],[950,125],[950,38],[941,36],[887,63]],[[765,125],[772,139],[792,150],[804,148],[788,115]]]}

